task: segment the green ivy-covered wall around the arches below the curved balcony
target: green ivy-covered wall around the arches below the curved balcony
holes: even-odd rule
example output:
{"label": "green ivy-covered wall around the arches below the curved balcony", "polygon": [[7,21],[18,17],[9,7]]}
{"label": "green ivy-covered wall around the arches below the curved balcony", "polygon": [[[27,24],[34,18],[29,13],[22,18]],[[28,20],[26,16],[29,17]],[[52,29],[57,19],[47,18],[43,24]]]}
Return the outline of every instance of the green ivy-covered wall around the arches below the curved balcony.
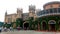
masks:
{"label": "green ivy-covered wall around the arches below the curved balcony", "polygon": [[56,21],[56,30],[58,30],[58,21],[60,20],[60,16],[44,16],[44,17],[40,17],[38,18],[38,20],[40,21],[40,30],[42,30],[42,21],[46,21],[46,30],[49,29],[49,26],[48,26],[48,22],[50,20],[55,20]]}

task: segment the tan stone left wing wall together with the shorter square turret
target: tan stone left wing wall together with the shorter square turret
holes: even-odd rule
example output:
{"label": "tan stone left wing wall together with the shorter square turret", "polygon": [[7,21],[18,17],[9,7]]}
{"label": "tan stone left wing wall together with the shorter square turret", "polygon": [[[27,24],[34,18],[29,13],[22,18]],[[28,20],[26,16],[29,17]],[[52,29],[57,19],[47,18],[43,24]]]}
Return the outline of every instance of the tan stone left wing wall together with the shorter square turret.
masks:
{"label": "tan stone left wing wall together with the shorter square turret", "polygon": [[6,14],[5,15],[5,22],[10,23],[10,22],[16,22],[17,18],[22,18],[22,10],[17,9],[17,14]]}

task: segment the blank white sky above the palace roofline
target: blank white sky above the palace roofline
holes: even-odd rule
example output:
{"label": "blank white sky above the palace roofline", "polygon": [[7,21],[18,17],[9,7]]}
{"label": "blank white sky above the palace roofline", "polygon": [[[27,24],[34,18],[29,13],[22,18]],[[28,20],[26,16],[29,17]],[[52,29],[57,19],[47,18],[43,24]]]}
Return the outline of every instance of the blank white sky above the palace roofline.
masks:
{"label": "blank white sky above the palace roofline", "polygon": [[51,1],[60,0],[0,0],[0,21],[4,22],[6,11],[13,14],[17,12],[17,8],[22,8],[23,13],[27,13],[29,5],[35,5],[36,9],[43,10],[43,5]]}

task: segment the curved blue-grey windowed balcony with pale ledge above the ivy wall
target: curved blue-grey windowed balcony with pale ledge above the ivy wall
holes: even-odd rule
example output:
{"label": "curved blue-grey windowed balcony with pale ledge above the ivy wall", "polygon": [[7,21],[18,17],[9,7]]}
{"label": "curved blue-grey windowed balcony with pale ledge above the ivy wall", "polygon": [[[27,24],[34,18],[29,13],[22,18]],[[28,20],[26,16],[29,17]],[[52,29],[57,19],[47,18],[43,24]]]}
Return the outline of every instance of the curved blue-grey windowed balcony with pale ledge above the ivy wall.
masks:
{"label": "curved blue-grey windowed balcony with pale ledge above the ivy wall", "polygon": [[60,8],[51,8],[48,10],[42,10],[37,13],[38,17],[48,16],[48,15],[60,15]]}

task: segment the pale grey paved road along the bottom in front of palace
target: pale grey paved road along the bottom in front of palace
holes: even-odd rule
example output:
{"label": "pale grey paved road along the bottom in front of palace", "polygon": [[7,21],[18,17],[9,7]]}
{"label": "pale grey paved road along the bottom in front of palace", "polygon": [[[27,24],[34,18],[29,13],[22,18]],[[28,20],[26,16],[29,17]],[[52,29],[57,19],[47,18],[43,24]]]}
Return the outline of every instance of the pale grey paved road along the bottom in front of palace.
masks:
{"label": "pale grey paved road along the bottom in front of palace", "polygon": [[0,34],[60,34],[60,32],[37,32],[37,31],[9,31]]}

